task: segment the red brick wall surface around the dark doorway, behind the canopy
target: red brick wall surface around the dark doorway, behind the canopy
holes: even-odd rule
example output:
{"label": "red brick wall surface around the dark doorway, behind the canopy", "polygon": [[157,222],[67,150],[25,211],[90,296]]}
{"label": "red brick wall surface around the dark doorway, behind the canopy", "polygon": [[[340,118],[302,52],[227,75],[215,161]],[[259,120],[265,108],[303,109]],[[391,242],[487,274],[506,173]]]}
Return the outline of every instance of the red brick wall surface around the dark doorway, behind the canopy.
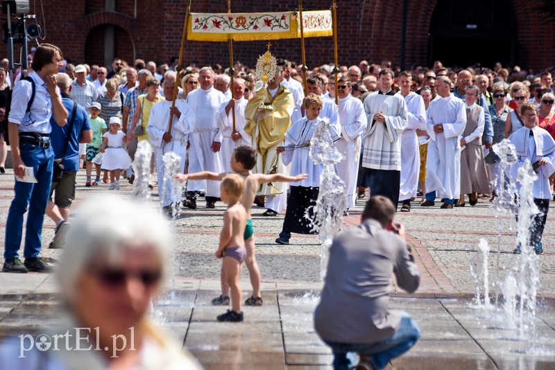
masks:
{"label": "red brick wall surface around the dark doorway, behind the canopy", "polygon": [[[111,1],[111,0],[108,0]],[[407,25],[406,64],[429,64],[428,33],[435,5],[438,0],[414,0],[409,3]],[[338,3],[339,64],[355,64],[362,59],[381,62],[382,59],[400,62],[400,40],[402,20],[402,0],[341,0]],[[264,4],[264,6],[261,6]],[[185,17],[185,0],[137,0],[137,18],[133,17],[135,0],[117,0],[117,13],[105,13],[104,1],[50,0],[44,8],[44,19],[37,14],[37,21],[46,24],[44,42],[57,44],[64,55],[74,61],[93,58],[98,53],[98,61],[103,60],[103,48],[87,43],[92,51],[85,51],[89,32],[101,30],[95,27],[105,23],[119,26],[115,44],[118,56],[130,62],[135,58],[168,62],[172,55],[178,55]],[[295,10],[297,0],[232,1],[234,12],[254,12],[260,10]],[[305,1],[305,10],[321,10],[332,6],[331,0]],[[554,24],[542,24],[539,15],[531,10],[527,1],[507,1],[515,11],[517,42],[519,53],[516,62],[524,68],[540,69],[555,64]],[[225,12],[227,3],[221,0],[194,1],[193,12]],[[538,37],[541,35],[541,37]],[[89,35],[90,36],[90,35]],[[133,40],[130,42],[129,40]],[[266,42],[236,42],[234,58],[253,66]],[[134,50],[133,50],[134,46]],[[333,60],[332,37],[311,38],[305,42],[307,64],[316,67]],[[300,40],[275,40],[273,53],[279,58],[300,62]],[[134,52],[133,52],[134,51]],[[492,52],[495,52],[493,50]],[[226,43],[192,42],[185,44],[185,61],[198,64],[219,62],[228,65]]]}

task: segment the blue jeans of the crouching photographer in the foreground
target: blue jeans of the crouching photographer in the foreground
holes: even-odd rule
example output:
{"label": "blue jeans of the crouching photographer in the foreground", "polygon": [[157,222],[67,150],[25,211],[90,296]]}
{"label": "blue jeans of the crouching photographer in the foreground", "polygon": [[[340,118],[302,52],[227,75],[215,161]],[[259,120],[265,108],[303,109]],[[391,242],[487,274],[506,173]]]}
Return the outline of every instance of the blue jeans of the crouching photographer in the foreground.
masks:
{"label": "blue jeans of the crouching photographer in the foreground", "polygon": [[416,344],[418,338],[420,338],[420,328],[418,328],[418,325],[416,325],[407,312],[401,312],[401,314],[399,328],[384,342],[373,344],[325,342],[328,346],[332,347],[334,369],[354,369],[357,364],[354,363],[354,356],[349,354],[351,352],[369,356],[376,369],[384,369],[391,359],[409,351]]}

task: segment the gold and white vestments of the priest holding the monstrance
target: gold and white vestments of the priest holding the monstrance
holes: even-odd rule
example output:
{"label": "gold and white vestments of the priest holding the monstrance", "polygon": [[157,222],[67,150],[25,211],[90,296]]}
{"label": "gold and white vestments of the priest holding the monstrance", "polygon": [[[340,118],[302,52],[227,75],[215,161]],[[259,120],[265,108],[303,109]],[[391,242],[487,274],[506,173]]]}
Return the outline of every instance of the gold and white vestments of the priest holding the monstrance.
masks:
{"label": "gold and white vestments of the priest holding the monstrance", "polygon": [[[278,93],[272,98],[264,88],[257,91],[248,100],[245,109],[245,132],[253,138],[253,148],[258,152],[257,165],[254,173],[270,173],[273,167],[278,173],[285,173],[283,163],[275,148],[283,146],[285,133],[291,127],[291,114],[295,109],[295,101],[291,91],[280,85]],[[274,184],[282,191],[282,183]],[[273,191],[271,191],[273,190]],[[275,195],[275,189],[262,186],[259,195]]]}

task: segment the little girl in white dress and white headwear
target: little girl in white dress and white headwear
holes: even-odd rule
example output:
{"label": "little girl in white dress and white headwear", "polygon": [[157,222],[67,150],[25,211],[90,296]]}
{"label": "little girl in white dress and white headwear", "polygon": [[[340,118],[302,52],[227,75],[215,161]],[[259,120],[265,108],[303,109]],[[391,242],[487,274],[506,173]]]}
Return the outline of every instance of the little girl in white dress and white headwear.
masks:
{"label": "little girl in white dress and white headwear", "polygon": [[110,118],[110,130],[102,135],[102,145],[100,151],[103,153],[102,166],[103,170],[110,171],[110,190],[119,190],[119,175],[121,168],[129,168],[131,166],[131,158],[123,149],[126,143],[126,134],[123,134],[119,128],[121,121],[118,117]]}

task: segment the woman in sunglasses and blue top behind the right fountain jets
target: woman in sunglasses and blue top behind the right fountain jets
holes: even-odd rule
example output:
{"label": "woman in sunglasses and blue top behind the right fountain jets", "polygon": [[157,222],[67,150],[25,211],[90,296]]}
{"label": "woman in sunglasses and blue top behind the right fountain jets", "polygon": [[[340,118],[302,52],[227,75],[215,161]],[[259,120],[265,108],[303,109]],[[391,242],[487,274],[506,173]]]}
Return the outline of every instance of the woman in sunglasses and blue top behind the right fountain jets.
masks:
{"label": "woman in sunglasses and blue top behind the right fountain jets", "polygon": [[[490,105],[490,116],[491,122],[493,123],[493,143],[497,144],[504,139],[504,132],[505,132],[505,125],[507,121],[507,117],[513,112],[513,109],[509,108],[508,105],[505,104],[505,87],[502,83],[496,84],[493,86],[493,101],[494,104]],[[522,100],[524,101],[524,100]],[[493,202],[495,199],[495,195],[500,191],[500,185],[495,187],[495,179],[499,177],[500,167],[499,167],[499,157],[495,155],[493,150],[490,150],[488,155],[484,158],[486,162],[486,166],[488,168],[489,179],[492,190],[492,196],[490,202]]]}

